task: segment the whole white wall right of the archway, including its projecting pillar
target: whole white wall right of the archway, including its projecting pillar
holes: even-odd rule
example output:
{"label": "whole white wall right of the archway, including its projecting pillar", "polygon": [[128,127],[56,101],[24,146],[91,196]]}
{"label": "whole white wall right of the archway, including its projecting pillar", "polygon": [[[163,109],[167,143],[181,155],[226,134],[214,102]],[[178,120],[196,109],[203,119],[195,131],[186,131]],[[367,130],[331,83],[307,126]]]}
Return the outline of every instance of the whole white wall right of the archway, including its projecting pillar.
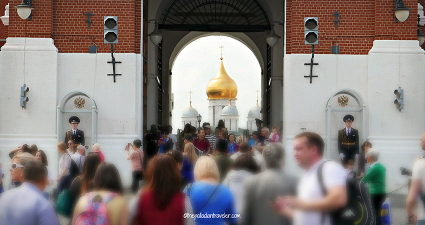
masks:
{"label": "whole white wall right of the archway, including its projecting pillar", "polygon": [[[417,41],[375,40],[368,55],[315,54],[314,62],[318,65],[313,66],[313,75],[318,77],[313,77],[311,84],[309,78],[303,77],[309,74],[309,66],[303,63],[309,62],[311,54],[286,54],[283,82],[286,166],[296,168],[292,156],[294,135],[309,130],[326,138],[326,102],[335,91],[349,88],[364,99],[366,127],[361,127],[359,116],[353,127],[360,127],[359,132],[380,150],[380,160],[387,169],[387,189],[404,184],[407,177],[402,177],[398,168],[412,167],[413,159],[421,155],[418,143],[425,127],[423,53]],[[401,112],[393,104],[393,90],[398,86],[404,88]],[[343,127],[338,117],[332,121],[330,150],[334,155],[337,146],[333,133]]]}

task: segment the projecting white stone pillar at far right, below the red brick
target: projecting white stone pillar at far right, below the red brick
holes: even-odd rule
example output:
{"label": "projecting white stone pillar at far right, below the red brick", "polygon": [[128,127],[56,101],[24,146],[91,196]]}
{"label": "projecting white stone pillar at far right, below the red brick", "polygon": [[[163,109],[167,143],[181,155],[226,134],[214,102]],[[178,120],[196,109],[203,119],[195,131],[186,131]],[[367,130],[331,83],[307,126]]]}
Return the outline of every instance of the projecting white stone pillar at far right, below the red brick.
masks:
{"label": "projecting white stone pillar at far right, below the red brick", "polygon": [[[387,166],[387,188],[407,182],[401,166],[413,165],[423,152],[419,138],[425,131],[425,55],[417,40],[374,40],[368,55],[368,140]],[[398,86],[404,89],[404,108],[393,103]]]}

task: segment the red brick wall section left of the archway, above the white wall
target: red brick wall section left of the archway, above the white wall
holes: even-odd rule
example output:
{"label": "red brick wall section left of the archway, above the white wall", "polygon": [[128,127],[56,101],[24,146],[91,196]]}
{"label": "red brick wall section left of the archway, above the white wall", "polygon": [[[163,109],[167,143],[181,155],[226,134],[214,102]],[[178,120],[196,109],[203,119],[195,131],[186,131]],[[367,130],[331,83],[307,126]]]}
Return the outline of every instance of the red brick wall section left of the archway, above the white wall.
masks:
{"label": "red brick wall section left of the archway, above the white wall", "polygon": [[[21,0],[10,0],[8,37],[51,37],[59,52],[88,52],[90,44],[97,52],[109,52],[103,43],[103,16],[118,17],[118,43],[115,52],[140,52],[141,0],[33,0],[32,20],[20,19],[13,6]],[[90,28],[86,15],[90,11]]]}

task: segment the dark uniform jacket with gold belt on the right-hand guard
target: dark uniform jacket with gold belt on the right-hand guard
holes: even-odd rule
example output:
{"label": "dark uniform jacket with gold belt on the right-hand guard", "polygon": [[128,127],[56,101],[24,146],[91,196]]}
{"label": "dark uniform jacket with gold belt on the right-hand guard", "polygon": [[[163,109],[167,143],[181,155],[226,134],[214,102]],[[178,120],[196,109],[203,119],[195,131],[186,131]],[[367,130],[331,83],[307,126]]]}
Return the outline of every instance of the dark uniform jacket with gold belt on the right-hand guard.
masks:
{"label": "dark uniform jacket with gold belt on the right-hand guard", "polygon": [[346,128],[338,130],[338,153],[344,153],[344,159],[341,159],[342,165],[345,165],[349,159],[355,160],[355,154],[358,154],[358,130],[351,127],[351,132],[347,136]]}

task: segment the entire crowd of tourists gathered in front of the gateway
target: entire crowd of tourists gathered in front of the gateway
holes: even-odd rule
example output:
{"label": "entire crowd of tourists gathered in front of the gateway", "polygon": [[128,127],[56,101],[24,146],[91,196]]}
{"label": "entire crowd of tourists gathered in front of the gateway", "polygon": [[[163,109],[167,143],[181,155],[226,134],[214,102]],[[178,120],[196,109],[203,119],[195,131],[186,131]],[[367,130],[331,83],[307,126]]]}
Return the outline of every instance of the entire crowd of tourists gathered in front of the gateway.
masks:
{"label": "entire crowd of tourists gathered in front of the gateway", "polygon": [[[72,140],[57,143],[57,177],[43,150],[23,144],[9,151],[11,186],[0,195],[0,221],[59,224],[60,214],[70,224],[87,225],[330,225],[340,221],[333,212],[349,204],[347,183],[354,180],[367,184],[373,223],[380,224],[385,167],[370,142],[361,145],[355,161],[341,165],[323,158],[320,135],[299,133],[293,157],[305,173],[296,177],[283,169],[287,156],[277,127],[270,133],[258,125],[249,136],[237,136],[222,121],[218,125],[212,130],[208,122],[197,129],[186,124],[177,135],[170,125],[151,125],[144,143],[126,143],[130,200],[98,143],[90,152]],[[421,145],[425,150],[425,134]],[[406,202],[407,216],[417,224],[425,224],[423,205],[416,211],[425,190],[424,161],[415,163]]]}

